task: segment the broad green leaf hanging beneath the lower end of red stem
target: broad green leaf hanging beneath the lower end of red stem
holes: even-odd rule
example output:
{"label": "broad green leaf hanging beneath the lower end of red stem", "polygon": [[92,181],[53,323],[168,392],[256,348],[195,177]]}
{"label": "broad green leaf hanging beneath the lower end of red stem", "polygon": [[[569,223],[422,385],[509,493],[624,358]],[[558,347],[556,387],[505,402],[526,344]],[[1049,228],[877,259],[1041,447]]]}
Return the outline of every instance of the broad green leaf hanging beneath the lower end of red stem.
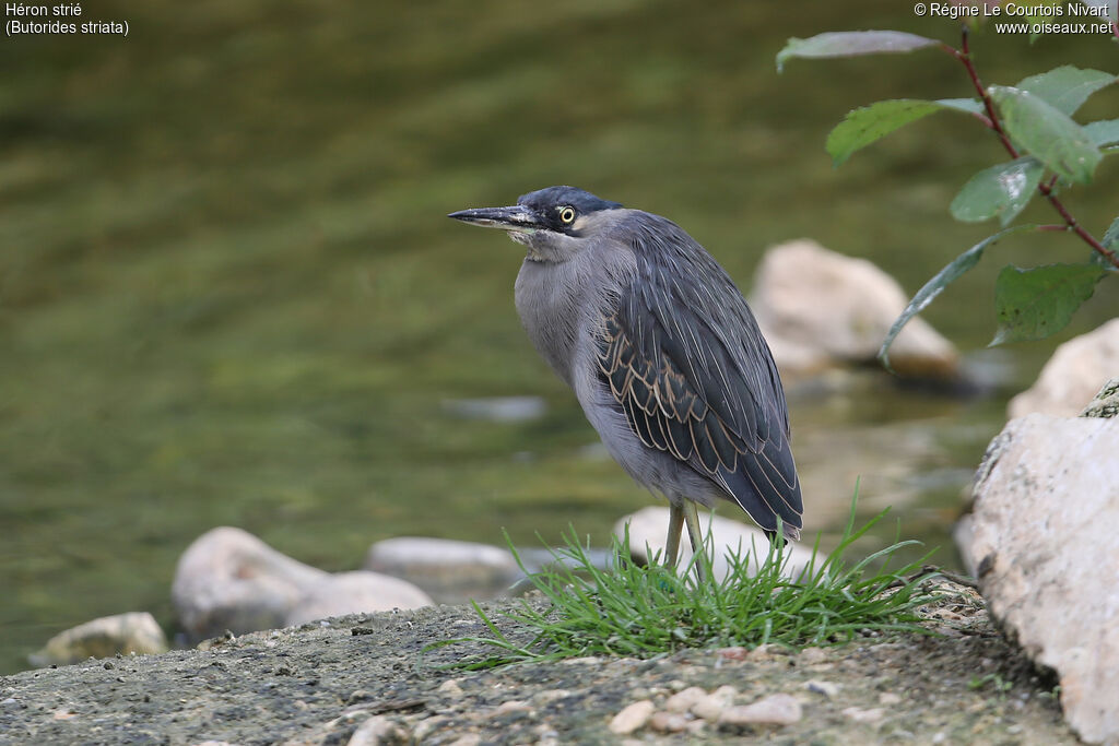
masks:
{"label": "broad green leaf hanging beneath the lower end of red stem", "polygon": [[998,331],[988,347],[1044,339],[1061,331],[1104,274],[1094,264],[1003,267],[995,281]]}

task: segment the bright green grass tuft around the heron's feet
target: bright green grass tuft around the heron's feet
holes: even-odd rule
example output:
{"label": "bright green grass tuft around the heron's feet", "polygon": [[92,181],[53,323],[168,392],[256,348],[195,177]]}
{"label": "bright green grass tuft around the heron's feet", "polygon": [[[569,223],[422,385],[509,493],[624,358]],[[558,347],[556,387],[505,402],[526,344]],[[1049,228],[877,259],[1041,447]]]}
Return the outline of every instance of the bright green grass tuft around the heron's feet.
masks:
{"label": "bright green grass tuft around the heron's feet", "polygon": [[[510,640],[472,602],[491,636],[445,640],[426,650],[481,643],[491,652],[449,667],[479,670],[584,655],[652,658],[684,648],[833,645],[866,631],[929,633],[916,613],[935,597],[922,591],[929,574],[921,570],[929,555],[888,569],[899,549],[919,542],[897,541],[853,565],[844,558],[850,545],[886,512],[856,530],[853,500],[839,546],[821,557],[817,538],[811,561],[796,577],[787,572],[789,555],[779,541],[768,547],[764,558],[756,547],[745,554],[730,553],[730,572],[718,582],[695,578],[697,561],[713,577],[704,553],[679,572],[656,559],[649,566],[634,563],[628,530],[613,541],[614,566],[603,570],[594,566],[571,529],[564,535],[565,546],[549,550],[556,561],[528,575],[545,603],[521,598],[518,611],[501,613],[527,632],[517,635],[527,642]],[[524,570],[520,556],[513,551]],[[756,573],[751,565],[758,567]]]}

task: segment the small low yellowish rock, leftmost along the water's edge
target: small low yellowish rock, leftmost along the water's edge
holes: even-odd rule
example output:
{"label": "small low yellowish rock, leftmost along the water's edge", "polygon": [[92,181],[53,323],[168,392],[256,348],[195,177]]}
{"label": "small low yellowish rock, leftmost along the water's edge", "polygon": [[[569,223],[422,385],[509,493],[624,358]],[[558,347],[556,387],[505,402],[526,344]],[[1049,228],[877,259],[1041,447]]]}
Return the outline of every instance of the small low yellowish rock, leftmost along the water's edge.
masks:
{"label": "small low yellowish rock, leftmost along the water's edge", "polygon": [[148,612],[102,616],[59,632],[29,655],[32,665],[65,665],[87,658],[110,658],[120,653],[140,655],[167,652],[167,638]]}

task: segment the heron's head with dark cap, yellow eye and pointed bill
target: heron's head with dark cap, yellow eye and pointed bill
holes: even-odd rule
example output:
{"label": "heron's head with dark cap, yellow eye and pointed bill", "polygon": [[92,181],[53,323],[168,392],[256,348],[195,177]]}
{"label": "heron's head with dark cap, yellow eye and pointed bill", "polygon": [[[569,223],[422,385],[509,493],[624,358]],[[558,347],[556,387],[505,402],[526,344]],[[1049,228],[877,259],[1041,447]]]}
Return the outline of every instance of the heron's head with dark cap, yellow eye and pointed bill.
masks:
{"label": "heron's head with dark cap, yellow eye and pointed bill", "polygon": [[528,247],[536,262],[564,262],[579,253],[606,225],[618,202],[599,199],[575,187],[548,187],[523,195],[511,207],[478,207],[448,217],[501,228]]}

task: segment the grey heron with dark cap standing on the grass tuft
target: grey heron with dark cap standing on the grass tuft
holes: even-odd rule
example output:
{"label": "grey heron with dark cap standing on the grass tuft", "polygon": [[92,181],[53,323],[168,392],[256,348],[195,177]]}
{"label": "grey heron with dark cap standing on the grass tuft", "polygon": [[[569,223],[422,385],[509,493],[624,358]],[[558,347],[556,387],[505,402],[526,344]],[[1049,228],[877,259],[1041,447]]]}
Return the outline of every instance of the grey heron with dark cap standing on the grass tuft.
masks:
{"label": "grey heron with dark cap standing on the grass tuft", "polygon": [[[742,293],[671,220],[572,187],[450,217],[525,245],[533,344],[639,483],[687,510],[730,499],[767,532],[802,527],[781,379]],[[675,561],[673,526],[670,560]]]}

